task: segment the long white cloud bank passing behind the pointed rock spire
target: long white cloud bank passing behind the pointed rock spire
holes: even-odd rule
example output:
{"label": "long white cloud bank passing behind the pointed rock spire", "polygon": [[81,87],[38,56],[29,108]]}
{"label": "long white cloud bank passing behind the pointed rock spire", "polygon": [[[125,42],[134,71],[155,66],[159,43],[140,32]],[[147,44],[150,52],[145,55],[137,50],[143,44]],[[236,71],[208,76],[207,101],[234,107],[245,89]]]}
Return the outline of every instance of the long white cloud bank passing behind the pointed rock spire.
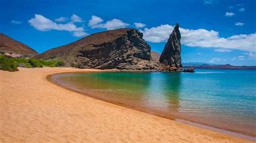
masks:
{"label": "long white cloud bank passing behind the pointed rock spire", "polygon": [[[165,42],[173,30],[173,26],[165,24],[157,27],[144,28],[144,39],[150,42]],[[203,48],[227,48],[240,49],[244,51],[256,51],[256,33],[239,34],[231,37],[221,38],[219,32],[205,29],[190,30],[180,28],[181,44],[190,47]]]}

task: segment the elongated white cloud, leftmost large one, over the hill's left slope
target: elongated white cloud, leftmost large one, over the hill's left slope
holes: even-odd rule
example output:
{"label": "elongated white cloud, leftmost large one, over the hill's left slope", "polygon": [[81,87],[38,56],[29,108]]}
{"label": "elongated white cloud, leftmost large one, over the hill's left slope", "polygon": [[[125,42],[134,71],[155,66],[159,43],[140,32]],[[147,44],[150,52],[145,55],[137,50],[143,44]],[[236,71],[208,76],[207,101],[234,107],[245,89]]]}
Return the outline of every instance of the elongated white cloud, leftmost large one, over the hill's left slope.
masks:
{"label": "elongated white cloud, leftmost large one, over the hill's left slope", "polygon": [[[74,36],[77,36],[77,35],[83,36],[86,34],[84,32],[83,27],[77,27],[73,23],[57,24],[42,15],[35,15],[35,18],[29,19],[28,22],[30,23],[31,26],[33,26],[36,30],[39,30],[39,31],[50,31],[50,30],[69,31],[69,32],[73,32]],[[77,34],[75,32],[80,32],[80,34]]]}

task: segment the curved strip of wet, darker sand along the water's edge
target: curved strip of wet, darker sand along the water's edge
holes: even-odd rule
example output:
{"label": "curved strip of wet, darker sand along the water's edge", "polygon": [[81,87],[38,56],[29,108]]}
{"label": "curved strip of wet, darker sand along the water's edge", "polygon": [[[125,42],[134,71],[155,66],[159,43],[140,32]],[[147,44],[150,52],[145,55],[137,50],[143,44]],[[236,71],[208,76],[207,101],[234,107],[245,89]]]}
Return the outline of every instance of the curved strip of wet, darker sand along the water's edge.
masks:
{"label": "curved strip of wet, darker sand along the water's edge", "polygon": [[[120,71],[112,71],[112,70],[110,70],[110,71],[99,71],[99,72],[120,72]],[[129,71],[126,71],[126,72],[129,72]],[[86,71],[78,71],[77,72],[77,71],[75,71],[75,72],[65,72],[65,73],[96,73],[96,72],[93,72],[93,71],[92,72],[90,72],[90,71],[89,72],[86,72]],[[246,134],[242,134],[242,133],[237,133],[235,131],[228,130],[226,128],[219,128],[219,127],[215,127],[215,126],[211,126],[211,125],[200,124],[200,123],[196,123],[194,121],[190,121],[190,120],[187,120],[187,119],[175,117],[175,116],[172,116],[172,115],[165,115],[164,113],[159,113],[159,112],[147,110],[147,109],[144,109],[144,108],[138,108],[138,107],[135,107],[135,106],[132,106],[132,105],[127,105],[125,103],[120,103],[120,102],[117,102],[117,101],[112,101],[112,100],[110,100],[108,98],[103,98],[103,97],[99,97],[97,95],[88,94],[85,91],[79,91],[79,90],[77,90],[75,88],[68,87],[68,85],[63,85],[60,82],[58,82],[57,80],[53,80],[53,78],[52,78],[55,75],[65,74],[65,73],[51,74],[51,75],[46,76],[46,79],[49,82],[51,82],[52,84],[57,85],[58,87],[61,87],[61,88],[64,88],[66,90],[70,90],[70,91],[73,91],[73,92],[77,92],[78,94],[82,94],[82,95],[85,95],[85,96],[88,96],[88,97],[91,97],[91,98],[95,98],[95,99],[98,99],[100,101],[104,101],[104,102],[107,102],[107,103],[112,103],[112,104],[115,104],[115,105],[123,106],[125,108],[137,110],[137,111],[140,111],[140,112],[150,113],[151,115],[159,116],[159,117],[166,118],[166,119],[175,120],[175,121],[178,121],[180,123],[185,123],[185,124],[189,124],[189,125],[192,125],[192,126],[206,128],[208,130],[217,131],[217,132],[220,132],[220,133],[232,135],[234,137],[244,138],[244,139],[248,139],[248,140],[252,140],[252,141],[256,140],[256,138],[253,137],[252,135],[246,135]],[[98,73],[98,71],[97,71],[97,73]]]}

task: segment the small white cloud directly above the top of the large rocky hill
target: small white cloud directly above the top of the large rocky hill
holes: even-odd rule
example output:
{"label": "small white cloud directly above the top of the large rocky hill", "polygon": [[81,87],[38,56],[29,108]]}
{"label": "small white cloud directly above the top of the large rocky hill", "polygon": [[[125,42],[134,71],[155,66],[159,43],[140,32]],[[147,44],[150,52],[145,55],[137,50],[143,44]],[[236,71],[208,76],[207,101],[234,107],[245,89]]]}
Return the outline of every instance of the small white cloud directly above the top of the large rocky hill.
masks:
{"label": "small white cloud directly above the top of the large rocky hill", "polygon": [[125,28],[129,26],[129,24],[122,22],[120,19],[112,19],[107,21],[106,23],[102,23],[103,19],[97,16],[92,16],[92,18],[89,20],[88,25],[91,28],[106,28],[107,30],[114,30],[118,28]]}

